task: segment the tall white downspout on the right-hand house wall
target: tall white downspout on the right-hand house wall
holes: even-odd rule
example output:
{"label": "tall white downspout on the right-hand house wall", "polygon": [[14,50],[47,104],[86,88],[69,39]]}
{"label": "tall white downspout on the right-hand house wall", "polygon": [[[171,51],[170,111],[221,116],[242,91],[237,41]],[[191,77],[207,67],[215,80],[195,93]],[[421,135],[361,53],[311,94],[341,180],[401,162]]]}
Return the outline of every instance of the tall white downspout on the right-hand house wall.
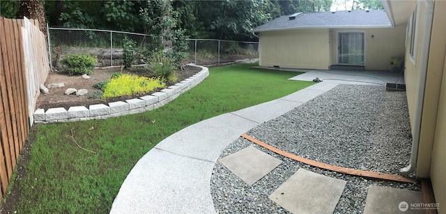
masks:
{"label": "tall white downspout on the right-hand house wall", "polygon": [[[420,1],[419,1],[420,2]],[[427,76],[427,62],[429,60],[429,46],[431,43],[431,31],[433,21],[433,1],[422,1],[426,4],[426,18],[424,19],[424,37],[422,40],[422,53],[420,58],[420,76],[418,76],[417,97],[415,98],[415,113],[413,122],[413,142],[412,151],[410,154],[410,163],[408,166],[401,168],[399,171],[402,174],[410,174],[415,170],[418,158],[418,148],[420,146],[420,133],[422,123],[422,113],[424,105],[424,93],[426,92],[426,76]],[[415,8],[417,10],[417,8]],[[419,13],[418,13],[419,14]]]}

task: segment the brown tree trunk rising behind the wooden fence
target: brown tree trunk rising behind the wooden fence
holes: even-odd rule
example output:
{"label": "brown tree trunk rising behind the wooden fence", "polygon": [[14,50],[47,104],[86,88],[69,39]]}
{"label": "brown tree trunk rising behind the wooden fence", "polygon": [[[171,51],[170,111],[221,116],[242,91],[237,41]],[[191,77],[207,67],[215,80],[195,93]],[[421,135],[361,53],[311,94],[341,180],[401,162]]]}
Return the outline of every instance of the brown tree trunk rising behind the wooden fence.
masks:
{"label": "brown tree trunk rising behind the wooden fence", "polygon": [[17,19],[37,19],[39,21],[39,28],[45,37],[47,37],[47,22],[45,22],[45,7],[43,1],[38,0],[21,0],[20,8],[17,12]]}

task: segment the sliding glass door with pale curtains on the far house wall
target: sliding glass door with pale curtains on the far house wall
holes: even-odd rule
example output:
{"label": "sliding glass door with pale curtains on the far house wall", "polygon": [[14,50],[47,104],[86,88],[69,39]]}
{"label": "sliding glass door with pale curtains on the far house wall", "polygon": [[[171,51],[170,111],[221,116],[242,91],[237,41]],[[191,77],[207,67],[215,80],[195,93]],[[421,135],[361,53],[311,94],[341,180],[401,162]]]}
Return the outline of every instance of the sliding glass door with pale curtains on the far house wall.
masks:
{"label": "sliding glass door with pale curtains on the far house wall", "polygon": [[339,32],[337,35],[337,63],[339,65],[364,65],[364,32]]}

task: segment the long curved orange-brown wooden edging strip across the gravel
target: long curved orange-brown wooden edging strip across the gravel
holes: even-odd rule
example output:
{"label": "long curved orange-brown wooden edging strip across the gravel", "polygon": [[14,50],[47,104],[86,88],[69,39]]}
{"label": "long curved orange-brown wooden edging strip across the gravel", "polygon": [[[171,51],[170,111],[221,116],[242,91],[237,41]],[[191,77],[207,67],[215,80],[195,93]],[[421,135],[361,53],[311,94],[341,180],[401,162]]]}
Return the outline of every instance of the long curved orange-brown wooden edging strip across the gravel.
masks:
{"label": "long curved orange-brown wooden edging strip across the gravel", "polygon": [[321,163],[318,161],[312,161],[309,160],[307,158],[302,158],[300,156],[296,156],[294,154],[290,154],[286,151],[277,149],[275,147],[272,147],[268,144],[266,144],[265,142],[261,142],[260,140],[257,140],[255,138],[252,138],[251,136],[247,135],[247,134],[243,134],[241,135],[243,138],[254,142],[256,145],[259,145],[263,148],[269,149],[270,151],[273,151],[277,154],[280,154],[282,156],[285,156],[287,158],[291,158],[295,161],[299,161],[301,163],[305,163],[307,165],[312,165],[314,167],[319,167],[321,169],[324,170],[331,170],[334,172],[340,172],[340,173],[344,173],[344,174],[351,174],[351,175],[355,175],[355,176],[364,176],[364,177],[369,177],[369,178],[374,178],[374,179],[383,179],[383,180],[390,180],[390,181],[401,181],[401,182],[406,182],[406,183],[418,183],[418,181],[416,179],[410,179],[410,178],[406,178],[404,176],[400,176],[397,174],[385,174],[385,173],[379,173],[379,172],[369,172],[369,171],[364,171],[364,170],[355,170],[355,169],[349,169],[349,168],[345,168],[345,167],[337,167],[335,165],[329,165],[329,164],[325,164],[325,163]]}

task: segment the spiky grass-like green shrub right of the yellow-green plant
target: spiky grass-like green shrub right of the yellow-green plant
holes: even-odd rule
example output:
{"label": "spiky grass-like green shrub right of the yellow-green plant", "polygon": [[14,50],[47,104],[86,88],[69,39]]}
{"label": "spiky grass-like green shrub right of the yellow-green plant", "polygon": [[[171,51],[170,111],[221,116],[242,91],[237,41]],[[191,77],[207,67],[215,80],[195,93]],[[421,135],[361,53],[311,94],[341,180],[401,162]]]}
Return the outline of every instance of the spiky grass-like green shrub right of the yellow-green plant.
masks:
{"label": "spiky grass-like green shrub right of the yellow-green plant", "polygon": [[176,70],[174,60],[164,56],[162,51],[157,51],[152,54],[148,66],[162,79],[167,79],[169,75]]}

